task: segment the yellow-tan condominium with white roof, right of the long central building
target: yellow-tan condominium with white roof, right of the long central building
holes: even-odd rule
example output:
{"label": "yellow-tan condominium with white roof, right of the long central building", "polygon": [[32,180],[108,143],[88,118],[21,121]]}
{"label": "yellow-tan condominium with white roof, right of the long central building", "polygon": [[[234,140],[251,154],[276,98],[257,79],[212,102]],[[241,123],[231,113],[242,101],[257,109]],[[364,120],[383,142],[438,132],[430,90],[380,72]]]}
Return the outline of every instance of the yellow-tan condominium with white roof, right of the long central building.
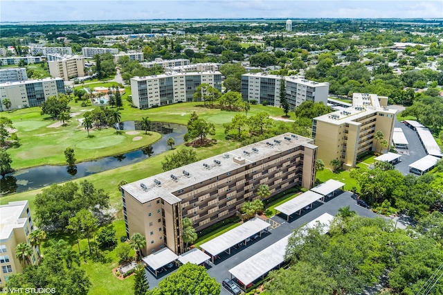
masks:
{"label": "yellow-tan condominium with white roof, right of the long central building", "polygon": [[[312,138],[318,146],[318,159],[327,167],[338,160],[350,169],[366,152],[389,149],[396,110],[388,109],[387,102],[387,97],[377,94],[354,93],[352,107],[314,118]],[[377,131],[383,132],[388,147],[381,146],[382,139],[374,138]]]}

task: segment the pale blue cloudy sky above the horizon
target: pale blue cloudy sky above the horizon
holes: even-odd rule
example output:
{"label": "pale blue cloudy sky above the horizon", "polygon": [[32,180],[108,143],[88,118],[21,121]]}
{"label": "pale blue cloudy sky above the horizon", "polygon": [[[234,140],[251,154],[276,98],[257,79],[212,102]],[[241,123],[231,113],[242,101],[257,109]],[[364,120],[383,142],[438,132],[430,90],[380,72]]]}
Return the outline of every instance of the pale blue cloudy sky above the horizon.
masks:
{"label": "pale blue cloudy sky above the horizon", "polygon": [[1,0],[0,22],[193,18],[443,18],[443,0]]}

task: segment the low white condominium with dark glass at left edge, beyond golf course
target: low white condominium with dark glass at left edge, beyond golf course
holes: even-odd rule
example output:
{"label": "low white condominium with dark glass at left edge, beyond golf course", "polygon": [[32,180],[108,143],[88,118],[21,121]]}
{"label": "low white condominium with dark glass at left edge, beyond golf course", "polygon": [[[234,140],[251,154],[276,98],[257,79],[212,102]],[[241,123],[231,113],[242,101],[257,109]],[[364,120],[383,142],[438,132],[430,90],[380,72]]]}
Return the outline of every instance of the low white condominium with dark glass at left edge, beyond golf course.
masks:
{"label": "low white condominium with dark glass at left edge, beyond golf course", "polygon": [[6,82],[0,84],[0,110],[4,110],[3,100],[8,98],[11,102],[10,109],[24,107],[38,107],[51,96],[64,94],[62,78],[44,78],[20,82]]}

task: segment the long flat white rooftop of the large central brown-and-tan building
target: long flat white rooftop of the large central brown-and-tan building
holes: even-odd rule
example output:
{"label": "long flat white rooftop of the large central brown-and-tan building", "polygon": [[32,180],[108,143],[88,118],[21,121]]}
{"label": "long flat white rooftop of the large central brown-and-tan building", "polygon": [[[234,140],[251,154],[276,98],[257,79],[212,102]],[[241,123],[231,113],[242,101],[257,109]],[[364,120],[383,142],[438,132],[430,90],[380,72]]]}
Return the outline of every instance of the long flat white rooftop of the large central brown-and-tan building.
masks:
{"label": "long flat white rooftop of the large central brown-and-tan building", "polygon": [[208,159],[134,181],[131,184],[122,186],[122,188],[142,204],[158,197],[161,197],[169,204],[175,204],[181,201],[179,197],[172,195],[177,190],[199,184],[202,181],[217,177],[217,175],[226,174],[242,166],[267,159],[278,152],[290,150],[298,146],[316,147],[316,145],[311,143],[314,143],[314,140],[311,138],[285,133],[251,145],[239,147],[225,154],[218,154]]}

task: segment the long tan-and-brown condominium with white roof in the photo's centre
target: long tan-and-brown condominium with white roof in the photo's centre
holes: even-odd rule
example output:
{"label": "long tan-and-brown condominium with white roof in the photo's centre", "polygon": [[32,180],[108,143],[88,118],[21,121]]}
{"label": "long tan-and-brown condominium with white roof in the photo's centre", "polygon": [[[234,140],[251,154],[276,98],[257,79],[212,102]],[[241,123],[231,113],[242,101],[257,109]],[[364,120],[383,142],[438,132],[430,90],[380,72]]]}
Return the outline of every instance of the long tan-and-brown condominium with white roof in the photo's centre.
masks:
{"label": "long tan-and-brown condominium with white roof in the photo's centre", "polygon": [[168,247],[183,252],[181,220],[196,231],[233,216],[259,198],[293,186],[311,188],[317,147],[311,138],[286,133],[122,186],[126,234],[146,238],[144,253]]}

